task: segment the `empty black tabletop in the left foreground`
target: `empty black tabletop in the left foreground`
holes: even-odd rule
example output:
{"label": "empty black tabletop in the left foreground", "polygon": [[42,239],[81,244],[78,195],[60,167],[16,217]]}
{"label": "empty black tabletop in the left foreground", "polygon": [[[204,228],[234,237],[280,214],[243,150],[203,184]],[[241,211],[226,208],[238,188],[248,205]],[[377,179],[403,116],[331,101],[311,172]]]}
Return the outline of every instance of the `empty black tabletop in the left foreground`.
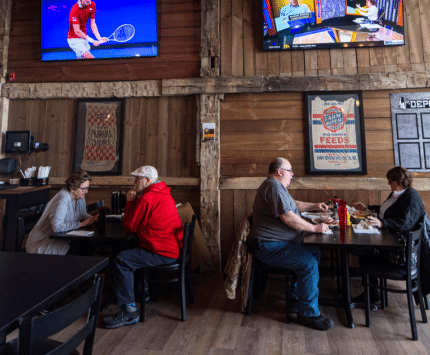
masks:
{"label": "empty black tabletop in the left foreground", "polygon": [[0,350],[20,317],[53,305],[108,264],[105,257],[0,252]]}

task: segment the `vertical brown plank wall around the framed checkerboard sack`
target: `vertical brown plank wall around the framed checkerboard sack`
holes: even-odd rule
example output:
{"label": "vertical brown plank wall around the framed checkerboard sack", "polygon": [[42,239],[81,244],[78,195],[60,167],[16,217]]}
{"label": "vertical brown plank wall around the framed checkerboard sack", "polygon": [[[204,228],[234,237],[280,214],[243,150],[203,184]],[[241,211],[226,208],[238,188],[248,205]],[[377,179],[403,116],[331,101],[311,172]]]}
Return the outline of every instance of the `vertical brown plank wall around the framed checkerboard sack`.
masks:
{"label": "vertical brown plank wall around the framed checkerboard sack", "polygon": [[[123,176],[129,176],[141,165],[152,165],[163,177],[199,177],[195,158],[196,112],[195,96],[126,99]],[[75,122],[76,100],[11,100],[8,130],[31,130],[36,141],[50,146],[47,152],[31,154],[23,168],[51,166],[51,177],[70,175]],[[23,163],[26,158],[22,156]],[[110,195],[117,188],[102,188],[100,191],[104,192],[100,193]],[[186,202],[189,194],[193,207],[199,210],[197,187],[177,189],[178,202]],[[107,196],[103,198],[106,200]]]}

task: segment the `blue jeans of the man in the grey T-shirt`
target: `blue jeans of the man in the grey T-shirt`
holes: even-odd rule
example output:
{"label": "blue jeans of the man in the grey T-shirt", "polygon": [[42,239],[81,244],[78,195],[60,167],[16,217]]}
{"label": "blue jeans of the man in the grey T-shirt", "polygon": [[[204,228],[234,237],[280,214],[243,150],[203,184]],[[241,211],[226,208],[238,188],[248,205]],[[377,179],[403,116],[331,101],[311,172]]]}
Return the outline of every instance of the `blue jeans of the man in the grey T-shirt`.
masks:
{"label": "blue jeans of the man in the grey T-shirt", "polygon": [[318,264],[321,252],[318,247],[302,243],[258,242],[260,250],[255,252],[258,260],[265,264],[284,267],[297,274],[292,298],[297,300],[297,308],[304,317],[320,315],[318,308]]}

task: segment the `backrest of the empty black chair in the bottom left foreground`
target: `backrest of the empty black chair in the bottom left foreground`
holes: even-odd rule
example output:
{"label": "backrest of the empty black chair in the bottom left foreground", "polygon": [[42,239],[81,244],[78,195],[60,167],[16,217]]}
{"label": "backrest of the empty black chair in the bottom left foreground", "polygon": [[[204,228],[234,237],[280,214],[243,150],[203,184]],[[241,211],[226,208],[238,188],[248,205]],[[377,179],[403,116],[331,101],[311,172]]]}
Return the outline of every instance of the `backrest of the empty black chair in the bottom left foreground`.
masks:
{"label": "backrest of the empty black chair in the bottom left foreground", "polygon": [[70,354],[84,340],[83,355],[92,353],[94,335],[97,326],[97,316],[103,289],[104,275],[95,276],[94,284],[79,298],[56,309],[44,316],[22,318],[19,325],[19,354],[31,355],[43,348],[47,337],[58,333],[89,312],[87,323],[79,329],[69,340],[58,343],[58,347],[51,349],[49,354]]}

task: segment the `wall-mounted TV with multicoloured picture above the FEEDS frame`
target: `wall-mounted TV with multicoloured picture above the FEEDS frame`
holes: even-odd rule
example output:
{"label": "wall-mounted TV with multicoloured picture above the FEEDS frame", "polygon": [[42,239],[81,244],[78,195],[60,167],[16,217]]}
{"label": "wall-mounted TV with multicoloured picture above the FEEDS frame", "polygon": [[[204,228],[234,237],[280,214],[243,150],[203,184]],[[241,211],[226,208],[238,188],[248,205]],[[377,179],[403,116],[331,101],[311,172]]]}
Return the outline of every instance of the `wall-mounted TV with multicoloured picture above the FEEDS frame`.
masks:
{"label": "wall-mounted TV with multicoloured picture above the FEEDS frame", "polygon": [[263,0],[265,51],[405,44],[402,0]]}

